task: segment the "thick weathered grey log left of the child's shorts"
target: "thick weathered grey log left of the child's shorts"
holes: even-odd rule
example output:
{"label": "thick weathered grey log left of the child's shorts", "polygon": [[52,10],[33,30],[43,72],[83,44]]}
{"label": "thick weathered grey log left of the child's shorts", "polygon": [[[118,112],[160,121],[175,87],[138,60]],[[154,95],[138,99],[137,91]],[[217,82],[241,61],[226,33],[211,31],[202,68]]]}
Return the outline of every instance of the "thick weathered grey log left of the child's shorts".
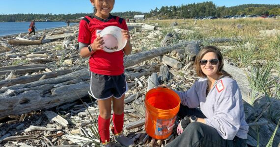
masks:
{"label": "thick weathered grey log left of the child's shorts", "polygon": [[[88,95],[89,84],[79,82],[54,88],[55,85],[73,79],[89,79],[88,69],[76,71],[66,77],[44,79],[27,84],[0,89],[0,117],[49,109],[72,102]],[[7,104],[9,103],[9,104]]]}

